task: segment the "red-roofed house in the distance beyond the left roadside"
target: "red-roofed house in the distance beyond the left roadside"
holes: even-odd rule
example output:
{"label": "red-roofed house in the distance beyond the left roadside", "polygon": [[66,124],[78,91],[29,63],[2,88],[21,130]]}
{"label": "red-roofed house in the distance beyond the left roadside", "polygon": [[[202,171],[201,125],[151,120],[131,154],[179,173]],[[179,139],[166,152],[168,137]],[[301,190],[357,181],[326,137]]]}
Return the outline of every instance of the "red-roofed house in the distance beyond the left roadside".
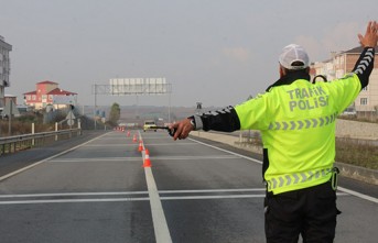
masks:
{"label": "red-roofed house in the distance beyond the left roadside", "polygon": [[25,92],[23,96],[24,103],[36,110],[43,109],[47,104],[53,104],[55,109],[58,109],[77,102],[76,92],[63,90],[58,88],[57,82],[48,80],[37,82],[34,91]]}

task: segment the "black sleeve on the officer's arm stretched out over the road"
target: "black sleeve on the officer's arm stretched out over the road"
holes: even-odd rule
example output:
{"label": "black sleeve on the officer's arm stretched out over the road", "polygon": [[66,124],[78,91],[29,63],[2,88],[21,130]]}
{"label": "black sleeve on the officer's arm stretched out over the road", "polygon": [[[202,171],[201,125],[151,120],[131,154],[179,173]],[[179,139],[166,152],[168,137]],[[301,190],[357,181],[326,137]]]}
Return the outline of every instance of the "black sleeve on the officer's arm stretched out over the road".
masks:
{"label": "black sleeve on the officer's arm stretched out over the road", "polygon": [[240,121],[234,109],[229,106],[217,111],[209,111],[199,115],[193,117],[196,124],[196,130],[214,130],[219,132],[234,132],[240,130]]}

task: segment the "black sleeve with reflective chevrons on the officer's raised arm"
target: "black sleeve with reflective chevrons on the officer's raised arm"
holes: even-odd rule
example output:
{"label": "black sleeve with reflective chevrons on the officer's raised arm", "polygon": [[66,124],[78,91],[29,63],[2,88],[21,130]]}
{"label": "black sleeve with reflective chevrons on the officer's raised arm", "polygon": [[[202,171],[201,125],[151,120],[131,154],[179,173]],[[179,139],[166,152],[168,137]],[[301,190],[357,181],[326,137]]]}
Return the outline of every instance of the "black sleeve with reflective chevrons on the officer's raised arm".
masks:
{"label": "black sleeve with reflective chevrons on the officer's raised arm", "polygon": [[361,82],[361,88],[365,88],[369,84],[369,76],[374,68],[374,56],[375,48],[365,47],[352,70],[358,76],[359,81]]}

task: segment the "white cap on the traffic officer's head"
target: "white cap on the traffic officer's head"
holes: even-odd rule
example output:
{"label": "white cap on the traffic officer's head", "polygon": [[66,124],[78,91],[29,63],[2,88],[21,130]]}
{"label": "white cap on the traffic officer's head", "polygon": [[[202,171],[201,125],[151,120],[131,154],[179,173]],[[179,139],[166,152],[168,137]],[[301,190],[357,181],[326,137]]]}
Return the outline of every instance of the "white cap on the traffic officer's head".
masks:
{"label": "white cap on the traffic officer's head", "polygon": [[[290,44],[283,47],[279,62],[287,69],[299,70],[309,67],[310,59],[307,53],[302,46]],[[292,65],[295,62],[300,62],[303,65]]]}

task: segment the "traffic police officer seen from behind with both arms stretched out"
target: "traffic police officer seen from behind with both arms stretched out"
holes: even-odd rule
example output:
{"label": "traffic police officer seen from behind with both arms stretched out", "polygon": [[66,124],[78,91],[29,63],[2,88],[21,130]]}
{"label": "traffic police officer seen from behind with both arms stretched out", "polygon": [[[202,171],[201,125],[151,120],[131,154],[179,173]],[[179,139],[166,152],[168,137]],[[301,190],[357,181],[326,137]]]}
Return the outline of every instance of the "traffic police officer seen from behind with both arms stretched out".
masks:
{"label": "traffic police officer seen from behind with both arms stretched out", "polygon": [[174,140],[193,130],[260,130],[263,142],[266,236],[268,242],[333,242],[336,228],[335,120],[368,85],[377,46],[376,21],[350,74],[310,82],[309,56],[299,45],[283,48],[280,79],[263,95],[236,107],[195,114],[174,123]]}

